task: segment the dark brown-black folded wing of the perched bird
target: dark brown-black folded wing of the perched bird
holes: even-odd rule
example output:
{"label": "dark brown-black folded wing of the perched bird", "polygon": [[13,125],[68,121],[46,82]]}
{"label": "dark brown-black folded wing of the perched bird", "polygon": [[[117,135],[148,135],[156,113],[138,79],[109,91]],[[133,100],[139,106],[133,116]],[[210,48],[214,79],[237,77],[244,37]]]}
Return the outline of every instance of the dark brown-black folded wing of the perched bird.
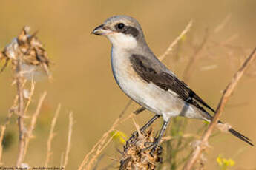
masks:
{"label": "dark brown-black folded wing of the perched bird", "polygon": [[[212,112],[215,112],[203,99],[192,91],[183,81],[180,81],[175,75],[163,71],[159,66],[153,65],[148,58],[142,55],[131,55],[132,67],[135,72],[144,80],[156,84],[161,89],[172,90],[184,101],[196,106],[198,109],[206,112],[198,103],[206,106]],[[161,66],[163,67],[163,66]],[[198,102],[198,103],[197,103]]]}

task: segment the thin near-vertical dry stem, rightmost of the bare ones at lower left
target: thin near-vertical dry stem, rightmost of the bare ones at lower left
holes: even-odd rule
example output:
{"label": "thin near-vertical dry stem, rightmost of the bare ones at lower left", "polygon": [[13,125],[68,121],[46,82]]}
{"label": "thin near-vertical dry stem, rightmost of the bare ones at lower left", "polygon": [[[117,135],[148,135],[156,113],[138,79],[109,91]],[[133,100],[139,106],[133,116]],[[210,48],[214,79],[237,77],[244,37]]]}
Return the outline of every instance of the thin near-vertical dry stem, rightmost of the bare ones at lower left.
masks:
{"label": "thin near-vertical dry stem, rightmost of the bare ones at lower left", "polygon": [[69,154],[70,148],[71,148],[70,146],[71,146],[72,131],[73,131],[73,112],[70,112],[70,114],[69,114],[69,125],[68,125],[68,143],[67,143],[67,148],[66,148],[66,152],[65,152],[64,164],[62,166],[64,169],[68,164],[68,154]]}

